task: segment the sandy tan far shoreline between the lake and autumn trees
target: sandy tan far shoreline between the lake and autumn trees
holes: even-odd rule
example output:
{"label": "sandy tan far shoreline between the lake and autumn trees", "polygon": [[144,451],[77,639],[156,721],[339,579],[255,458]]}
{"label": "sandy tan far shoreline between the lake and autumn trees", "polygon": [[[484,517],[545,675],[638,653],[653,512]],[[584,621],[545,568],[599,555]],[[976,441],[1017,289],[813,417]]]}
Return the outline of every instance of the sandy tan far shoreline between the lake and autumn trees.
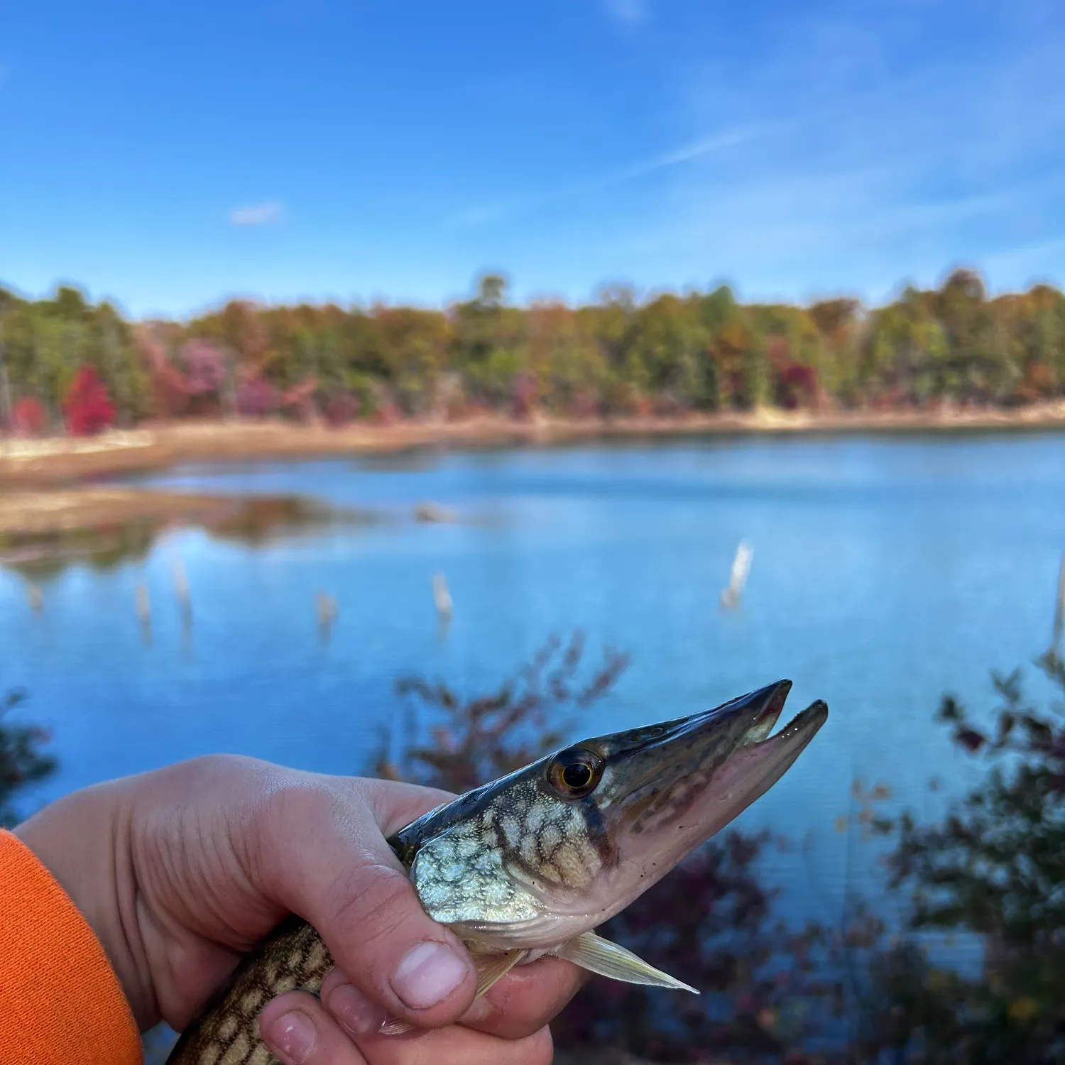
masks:
{"label": "sandy tan far shoreline between the lake and autumn trees", "polygon": [[98,437],[0,440],[0,490],[77,485],[183,462],[233,462],[388,454],[422,447],[477,449],[677,437],[841,436],[1065,429],[1065,400],[1013,410],[831,412],[764,409],[681,417],[480,417],[461,422],[355,424],[184,422]]}

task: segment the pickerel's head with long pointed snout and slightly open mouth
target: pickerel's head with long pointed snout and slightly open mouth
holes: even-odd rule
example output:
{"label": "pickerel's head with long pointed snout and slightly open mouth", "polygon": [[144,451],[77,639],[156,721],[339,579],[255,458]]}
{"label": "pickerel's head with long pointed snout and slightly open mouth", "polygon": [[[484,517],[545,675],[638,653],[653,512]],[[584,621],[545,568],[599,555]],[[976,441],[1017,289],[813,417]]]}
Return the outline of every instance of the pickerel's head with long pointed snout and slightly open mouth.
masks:
{"label": "pickerel's head with long pointed snout and slightly open mouth", "polygon": [[430,813],[400,833],[426,911],[507,949],[601,924],[799,757],[829,711],[815,702],[770,736],[790,688],[583,740]]}

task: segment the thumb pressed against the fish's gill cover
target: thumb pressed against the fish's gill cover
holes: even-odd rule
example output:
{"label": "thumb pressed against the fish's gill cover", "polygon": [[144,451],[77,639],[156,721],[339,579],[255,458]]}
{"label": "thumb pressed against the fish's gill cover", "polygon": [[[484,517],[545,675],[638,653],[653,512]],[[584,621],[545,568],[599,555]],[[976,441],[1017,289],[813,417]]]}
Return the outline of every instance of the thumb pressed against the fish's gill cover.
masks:
{"label": "thumb pressed against the fish's gill cover", "polygon": [[446,798],[384,781],[306,777],[274,792],[260,825],[264,890],[317,929],[354,985],[419,1028],[455,1022],[477,978],[455,933],[425,913],[383,832]]}

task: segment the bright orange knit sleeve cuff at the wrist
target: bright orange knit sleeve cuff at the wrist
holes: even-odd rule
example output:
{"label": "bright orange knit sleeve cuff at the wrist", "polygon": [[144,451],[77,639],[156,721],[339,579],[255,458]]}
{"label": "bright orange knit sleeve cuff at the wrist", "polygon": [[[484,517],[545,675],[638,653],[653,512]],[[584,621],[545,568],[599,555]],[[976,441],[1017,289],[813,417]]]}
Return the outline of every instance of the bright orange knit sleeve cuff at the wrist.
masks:
{"label": "bright orange knit sleeve cuff at the wrist", "polygon": [[0,1062],[142,1060],[133,1014],[88,922],[34,853],[0,832]]}

